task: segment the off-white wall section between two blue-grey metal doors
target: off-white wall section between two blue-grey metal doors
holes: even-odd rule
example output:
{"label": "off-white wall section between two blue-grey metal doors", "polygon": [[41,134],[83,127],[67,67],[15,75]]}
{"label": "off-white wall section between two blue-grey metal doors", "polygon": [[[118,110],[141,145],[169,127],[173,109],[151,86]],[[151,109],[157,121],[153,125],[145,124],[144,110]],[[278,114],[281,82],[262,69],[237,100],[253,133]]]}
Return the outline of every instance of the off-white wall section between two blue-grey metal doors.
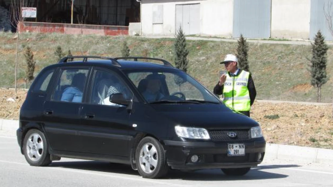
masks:
{"label": "off-white wall section between two blue-grey metal doors", "polygon": [[271,38],[308,39],[310,0],[272,0]]}

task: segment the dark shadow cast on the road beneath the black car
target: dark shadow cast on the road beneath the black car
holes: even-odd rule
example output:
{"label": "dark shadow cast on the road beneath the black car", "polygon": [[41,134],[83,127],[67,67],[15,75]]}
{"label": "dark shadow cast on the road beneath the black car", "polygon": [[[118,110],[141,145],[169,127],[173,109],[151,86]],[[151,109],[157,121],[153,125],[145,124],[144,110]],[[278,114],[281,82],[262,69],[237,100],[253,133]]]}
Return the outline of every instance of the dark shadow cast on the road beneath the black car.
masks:
{"label": "dark shadow cast on the road beneath the black car", "polygon": [[[57,161],[52,162],[49,167],[62,167],[71,169],[81,169],[87,171],[99,171],[108,173],[119,173],[127,175],[137,175],[138,171],[132,169],[130,165],[100,162],[100,161]],[[180,171],[170,170],[167,176],[162,179],[180,179],[180,180],[194,180],[194,181],[228,181],[228,180],[264,180],[264,179],[277,179],[286,178],[288,175],[275,173],[273,169],[276,168],[290,168],[299,167],[299,165],[260,165],[253,167],[243,176],[227,176],[224,175],[220,169],[203,169],[196,171]],[[267,169],[272,169],[267,171]]]}

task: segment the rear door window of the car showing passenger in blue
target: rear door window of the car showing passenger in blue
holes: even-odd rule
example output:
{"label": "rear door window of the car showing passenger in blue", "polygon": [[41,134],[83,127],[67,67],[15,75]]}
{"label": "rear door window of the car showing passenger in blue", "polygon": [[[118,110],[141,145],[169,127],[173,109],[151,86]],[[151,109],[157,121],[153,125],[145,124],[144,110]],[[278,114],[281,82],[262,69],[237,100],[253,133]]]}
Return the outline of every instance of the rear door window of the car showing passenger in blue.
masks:
{"label": "rear door window of the car showing passenger in blue", "polygon": [[81,103],[88,69],[65,69],[57,81],[53,101]]}

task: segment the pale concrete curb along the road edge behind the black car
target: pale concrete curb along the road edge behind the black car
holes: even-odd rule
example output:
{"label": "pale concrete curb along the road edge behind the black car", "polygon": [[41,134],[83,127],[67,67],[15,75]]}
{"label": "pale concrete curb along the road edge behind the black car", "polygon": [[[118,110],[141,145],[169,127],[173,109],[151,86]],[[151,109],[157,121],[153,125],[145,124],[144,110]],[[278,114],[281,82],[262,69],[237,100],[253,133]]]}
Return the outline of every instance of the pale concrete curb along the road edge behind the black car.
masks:
{"label": "pale concrete curb along the road edge behind the black car", "polygon": [[[0,124],[2,136],[16,137],[16,130],[19,127],[18,120],[0,119]],[[333,164],[333,149],[267,143],[265,158]]]}

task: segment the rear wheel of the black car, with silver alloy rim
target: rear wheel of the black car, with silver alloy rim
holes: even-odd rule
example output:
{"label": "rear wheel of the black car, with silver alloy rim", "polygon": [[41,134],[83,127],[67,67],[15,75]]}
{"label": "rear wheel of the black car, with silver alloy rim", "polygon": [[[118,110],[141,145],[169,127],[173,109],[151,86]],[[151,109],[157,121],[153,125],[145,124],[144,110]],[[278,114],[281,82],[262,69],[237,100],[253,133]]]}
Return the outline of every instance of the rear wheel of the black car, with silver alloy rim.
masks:
{"label": "rear wheel of the black car, with silver alloy rim", "polygon": [[48,142],[44,134],[37,129],[29,130],[25,135],[23,153],[27,162],[32,166],[47,166],[52,162]]}

